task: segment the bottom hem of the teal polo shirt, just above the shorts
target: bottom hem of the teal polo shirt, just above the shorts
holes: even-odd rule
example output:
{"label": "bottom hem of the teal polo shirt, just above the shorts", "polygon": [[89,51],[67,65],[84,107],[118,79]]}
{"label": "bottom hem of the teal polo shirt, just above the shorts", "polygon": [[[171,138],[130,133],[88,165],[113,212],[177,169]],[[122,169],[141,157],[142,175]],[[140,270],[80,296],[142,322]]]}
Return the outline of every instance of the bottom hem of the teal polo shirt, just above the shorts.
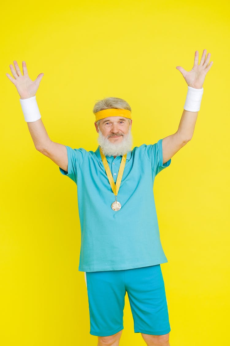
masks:
{"label": "bottom hem of the teal polo shirt, just above the shorts", "polygon": [[161,258],[159,260],[155,260],[148,263],[132,263],[132,264],[126,264],[126,265],[109,265],[109,266],[97,266],[92,268],[92,266],[79,266],[78,271],[79,272],[104,272],[104,271],[110,271],[110,270],[126,270],[126,269],[134,269],[134,268],[142,268],[142,267],[149,267],[151,265],[157,265],[161,263],[167,263],[167,258]]}

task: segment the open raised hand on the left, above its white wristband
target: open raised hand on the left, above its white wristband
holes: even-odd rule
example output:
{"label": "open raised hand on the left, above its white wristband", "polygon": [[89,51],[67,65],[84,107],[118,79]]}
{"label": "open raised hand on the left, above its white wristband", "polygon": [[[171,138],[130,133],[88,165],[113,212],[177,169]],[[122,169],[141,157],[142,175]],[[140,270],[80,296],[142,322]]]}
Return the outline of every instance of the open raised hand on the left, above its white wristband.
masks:
{"label": "open raised hand on the left, above its white wristband", "polygon": [[23,99],[28,99],[34,96],[38,90],[39,84],[41,82],[41,79],[44,73],[40,73],[37,76],[36,80],[32,81],[29,78],[25,61],[22,62],[23,75],[21,74],[17,61],[14,61],[13,63],[14,63],[14,67],[13,65],[10,65],[10,71],[13,75],[13,78],[11,77],[9,73],[6,73],[6,75],[9,78],[9,80],[16,86],[18,93],[20,95],[20,98],[23,100]]}

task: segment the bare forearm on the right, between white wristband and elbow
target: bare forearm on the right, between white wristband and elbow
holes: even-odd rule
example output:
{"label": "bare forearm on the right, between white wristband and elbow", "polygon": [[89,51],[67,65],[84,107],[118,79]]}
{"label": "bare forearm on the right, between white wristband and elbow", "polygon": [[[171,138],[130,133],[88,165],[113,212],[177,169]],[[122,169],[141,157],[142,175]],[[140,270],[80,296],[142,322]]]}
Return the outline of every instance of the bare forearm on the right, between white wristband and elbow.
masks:
{"label": "bare forearm on the right, between white wristband and elbow", "polygon": [[197,121],[198,112],[189,112],[183,110],[182,117],[180,119],[180,124],[177,130],[177,134],[181,137],[182,140],[191,140],[196,121]]}

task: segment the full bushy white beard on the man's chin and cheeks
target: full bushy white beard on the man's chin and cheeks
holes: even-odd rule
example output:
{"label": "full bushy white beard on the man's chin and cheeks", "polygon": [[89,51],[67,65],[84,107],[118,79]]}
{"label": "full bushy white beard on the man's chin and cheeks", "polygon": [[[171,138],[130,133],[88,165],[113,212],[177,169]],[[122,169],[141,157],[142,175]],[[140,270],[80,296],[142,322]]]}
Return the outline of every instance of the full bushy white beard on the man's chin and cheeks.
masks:
{"label": "full bushy white beard on the man's chin and cheeks", "polygon": [[102,153],[105,156],[123,156],[132,149],[132,135],[131,128],[127,135],[123,135],[122,141],[120,143],[111,143],[108,137],[104,137],[99,130],[98,143],[101,147]]}

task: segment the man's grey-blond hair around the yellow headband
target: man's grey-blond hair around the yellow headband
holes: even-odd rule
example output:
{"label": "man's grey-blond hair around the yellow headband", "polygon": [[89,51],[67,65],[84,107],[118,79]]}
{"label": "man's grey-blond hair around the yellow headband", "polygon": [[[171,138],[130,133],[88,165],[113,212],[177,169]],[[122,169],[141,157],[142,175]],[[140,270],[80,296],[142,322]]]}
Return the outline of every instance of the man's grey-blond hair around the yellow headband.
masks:
{"label": "man's grey-blond hair around the yellow headband", "polygon": [[[128,109],[131,110],[128,102],[123,99],[119,99],[118,97],[106,97],[103,100],[98,100],[93,107],[93,114],[99,112],[100,110],[110,109],[110,108],[118,108],[118,109]],[[130,119],[129,124],[130,124]],[[97,125],[100,124],[100,120],[97,121]]]}

